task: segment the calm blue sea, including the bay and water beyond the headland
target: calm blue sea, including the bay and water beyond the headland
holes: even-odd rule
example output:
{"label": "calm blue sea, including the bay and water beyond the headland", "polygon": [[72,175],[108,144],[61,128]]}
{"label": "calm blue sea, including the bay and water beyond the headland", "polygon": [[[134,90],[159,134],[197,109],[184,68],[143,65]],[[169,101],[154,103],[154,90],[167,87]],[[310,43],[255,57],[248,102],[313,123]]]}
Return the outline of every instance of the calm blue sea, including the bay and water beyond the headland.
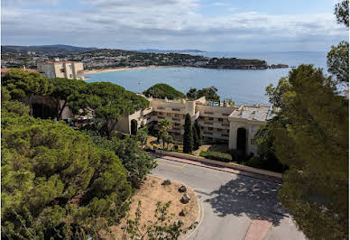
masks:
{"label": "calm blue sea, including the bay and water beyond the headland", "polygon": [[[226,57],[266,60],[271,64],[314,64],[327,73],[327,52],[203,52],[198,55],[207,57]],[[236,104],[268,104],[265,88],[276,85],[282,77],[288,76],[290,69],[200,69],[200,68],[163,68],[131,69],[115,72],[88,74],[87,82],[110,81],[127,90],[142,93],[157,83],[166,83],[187,93],[189,88],[207,88],[215,86],[221,99],[232,98]]]}

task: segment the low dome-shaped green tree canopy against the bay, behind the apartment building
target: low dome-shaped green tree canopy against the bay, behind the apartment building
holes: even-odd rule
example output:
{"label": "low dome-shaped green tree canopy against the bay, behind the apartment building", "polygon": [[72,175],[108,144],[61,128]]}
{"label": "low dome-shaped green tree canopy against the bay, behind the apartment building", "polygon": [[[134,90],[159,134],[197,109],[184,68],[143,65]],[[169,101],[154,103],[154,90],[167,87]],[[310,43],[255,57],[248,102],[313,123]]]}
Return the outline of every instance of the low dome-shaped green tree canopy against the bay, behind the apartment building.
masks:
{"label": "low dome-shaped green tree canopy against the bay, behind the apartment building", "polygon": [[183,93],[165,83],[156,84],[151,88],[148,88],[147,90],[143,91],[143,95],[146,97],[161,99],[178,99],[186,97]]}

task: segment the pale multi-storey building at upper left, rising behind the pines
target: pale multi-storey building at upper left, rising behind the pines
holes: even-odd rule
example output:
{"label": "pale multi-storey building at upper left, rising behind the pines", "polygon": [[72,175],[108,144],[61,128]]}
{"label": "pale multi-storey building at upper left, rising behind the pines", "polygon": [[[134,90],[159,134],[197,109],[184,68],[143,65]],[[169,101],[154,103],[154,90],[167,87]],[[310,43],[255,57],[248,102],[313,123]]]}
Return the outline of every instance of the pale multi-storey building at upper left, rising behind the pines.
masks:
{"label": "pale multi-storey building at upper left, rising behind the pines", "polygon": [[38,64],[38,71],[48,78],[84,80],[84,67],[77,61],[47,61]]}

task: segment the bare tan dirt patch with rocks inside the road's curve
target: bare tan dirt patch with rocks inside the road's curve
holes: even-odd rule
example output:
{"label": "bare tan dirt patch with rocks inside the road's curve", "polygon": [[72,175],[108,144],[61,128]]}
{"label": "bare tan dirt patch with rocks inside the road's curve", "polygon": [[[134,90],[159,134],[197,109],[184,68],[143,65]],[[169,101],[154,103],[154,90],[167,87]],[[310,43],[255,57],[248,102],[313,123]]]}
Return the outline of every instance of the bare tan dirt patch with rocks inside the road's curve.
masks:
{"label": "bare tan dirt patch with rocks inside the road's curve", "polygon": [[[169,186],[162,186],[163,180],[148,176],[147,180],[144,181],[141,189],[136,190],[132,204],[130,206],[130,218],[134,219],[135,211],[138,206],[139,200],[141,200],[141,224],[147,224],[149,221],[154,222],[154,210],[156,209],[157,202],[166,203],[171,201],[169,208],[169,214],[174,214],[170,223],[180,220],[183,222],[183,227],[188,227],[192,225],[198,217],[198,203],[195,196],[195,192],[187,187],[187,193],[189,194],[190,200],[187,204],[182,204],[180,199],[183,193],[179,192],[181,186],[178,182],[171,182]],[[181,217],[180,211],[185,206],[189,207],[189,214],[186,217]],[[121,226],[125,225],[126,219],[122,220],[122,224],[119,226],[112,226],[111,231],[113,236],[106,236],[106,239],[122,239],[123,230]]]}

